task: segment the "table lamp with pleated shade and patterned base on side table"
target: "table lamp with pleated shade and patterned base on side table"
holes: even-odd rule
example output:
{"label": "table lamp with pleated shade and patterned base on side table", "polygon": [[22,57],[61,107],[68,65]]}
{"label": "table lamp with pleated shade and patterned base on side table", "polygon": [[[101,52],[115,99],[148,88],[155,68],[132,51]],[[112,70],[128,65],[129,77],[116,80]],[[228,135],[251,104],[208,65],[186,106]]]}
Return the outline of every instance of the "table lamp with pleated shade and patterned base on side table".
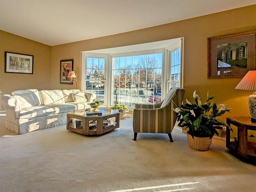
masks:
{"label": "table lamp with pleated shade and patterned base on side table", "polygon": [[235,89],[254,90],[249,96],[249,110],[252,116],[251,121],[256,122],[256,70],[248,71]]}

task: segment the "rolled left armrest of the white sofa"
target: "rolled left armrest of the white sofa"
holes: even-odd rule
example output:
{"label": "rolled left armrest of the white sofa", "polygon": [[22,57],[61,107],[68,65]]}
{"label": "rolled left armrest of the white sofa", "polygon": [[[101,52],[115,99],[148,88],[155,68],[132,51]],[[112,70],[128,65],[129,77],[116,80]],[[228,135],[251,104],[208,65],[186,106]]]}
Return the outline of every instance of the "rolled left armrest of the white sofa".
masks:
{"label": "rolled left armrest of the white sofa", "polygon": [[4,94],[0,97],[0,109],[1,110],[6,110],[14,108],[15,111],[20,111],[21,110],[21,104],[18,99],[16,99],[14,96]]}

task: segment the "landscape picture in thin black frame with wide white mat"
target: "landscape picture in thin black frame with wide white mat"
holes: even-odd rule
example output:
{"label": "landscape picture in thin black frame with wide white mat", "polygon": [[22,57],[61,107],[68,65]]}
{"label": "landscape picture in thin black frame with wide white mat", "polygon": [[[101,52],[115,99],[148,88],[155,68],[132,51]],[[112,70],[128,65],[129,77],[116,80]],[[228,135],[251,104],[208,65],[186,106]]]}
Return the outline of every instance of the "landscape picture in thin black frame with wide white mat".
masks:
{"label": "landscape picture in thin black frame with wide white mat", "polygon": [[24,55],[5,51],[4,72],[33,74],[33,62],[33,55]]}

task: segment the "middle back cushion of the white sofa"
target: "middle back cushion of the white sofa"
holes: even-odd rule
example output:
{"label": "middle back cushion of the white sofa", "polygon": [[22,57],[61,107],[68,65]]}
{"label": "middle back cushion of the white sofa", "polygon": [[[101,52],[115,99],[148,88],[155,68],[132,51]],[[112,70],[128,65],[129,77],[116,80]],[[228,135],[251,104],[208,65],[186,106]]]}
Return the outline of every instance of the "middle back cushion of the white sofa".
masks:
{"label": "middle back cushion of the white sofa", "polygon": [[61,90],[40,90],[39,91],[42,105],[52,103],[65,103]]}

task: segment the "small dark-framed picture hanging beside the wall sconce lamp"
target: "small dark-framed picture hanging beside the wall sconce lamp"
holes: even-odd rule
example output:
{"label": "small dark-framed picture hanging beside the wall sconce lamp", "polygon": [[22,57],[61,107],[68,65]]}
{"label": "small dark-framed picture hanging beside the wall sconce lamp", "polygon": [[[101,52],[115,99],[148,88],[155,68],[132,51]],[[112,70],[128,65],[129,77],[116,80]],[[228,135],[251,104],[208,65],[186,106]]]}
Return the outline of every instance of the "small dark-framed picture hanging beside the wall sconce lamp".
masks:
{"label": "small dark-framed picture hanging beside the wall sconce lamp", "polygon": [[60,84],[73,84],[68,73],[73,71],[73,59],[60,60]]}

